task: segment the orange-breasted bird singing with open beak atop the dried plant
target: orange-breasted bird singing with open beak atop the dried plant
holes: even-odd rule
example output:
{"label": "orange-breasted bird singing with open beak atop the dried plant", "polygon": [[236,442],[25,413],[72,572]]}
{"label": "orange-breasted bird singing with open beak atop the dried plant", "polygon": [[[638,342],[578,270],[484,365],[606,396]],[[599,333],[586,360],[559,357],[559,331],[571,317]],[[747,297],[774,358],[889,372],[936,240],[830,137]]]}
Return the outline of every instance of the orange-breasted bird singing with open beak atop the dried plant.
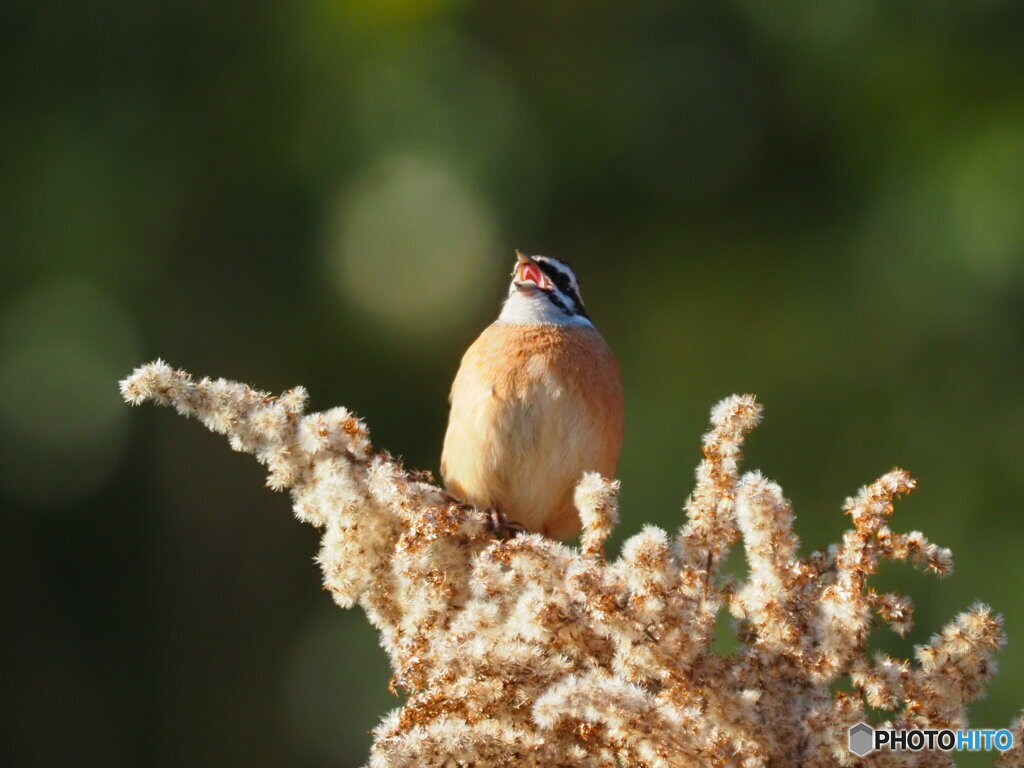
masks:
{"label": "orange-breasted bird singing with open beak atop the dried plant", "polygon": [[623,442],[618,362],[572,268],[516,251],[498,318],[462,357],[441,452],[450,494],[498,532],[568,538],[585,472],[613,478]]}

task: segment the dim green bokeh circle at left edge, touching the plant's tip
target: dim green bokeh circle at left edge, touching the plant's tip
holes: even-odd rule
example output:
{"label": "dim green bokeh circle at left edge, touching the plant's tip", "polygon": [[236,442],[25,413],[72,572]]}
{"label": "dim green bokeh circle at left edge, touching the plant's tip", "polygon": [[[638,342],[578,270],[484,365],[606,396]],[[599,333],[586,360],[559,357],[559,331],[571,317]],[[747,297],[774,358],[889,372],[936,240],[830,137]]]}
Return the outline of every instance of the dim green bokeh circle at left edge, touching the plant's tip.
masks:
{"label": "dim green bokeh circle at left edge, touching the plant's tip", "polygon": [[57,506],[114,470],[128,414],[116,382],[137,361],[131,321],[86,284],[56,284],[12,305],[0,323],[0,486]]}

